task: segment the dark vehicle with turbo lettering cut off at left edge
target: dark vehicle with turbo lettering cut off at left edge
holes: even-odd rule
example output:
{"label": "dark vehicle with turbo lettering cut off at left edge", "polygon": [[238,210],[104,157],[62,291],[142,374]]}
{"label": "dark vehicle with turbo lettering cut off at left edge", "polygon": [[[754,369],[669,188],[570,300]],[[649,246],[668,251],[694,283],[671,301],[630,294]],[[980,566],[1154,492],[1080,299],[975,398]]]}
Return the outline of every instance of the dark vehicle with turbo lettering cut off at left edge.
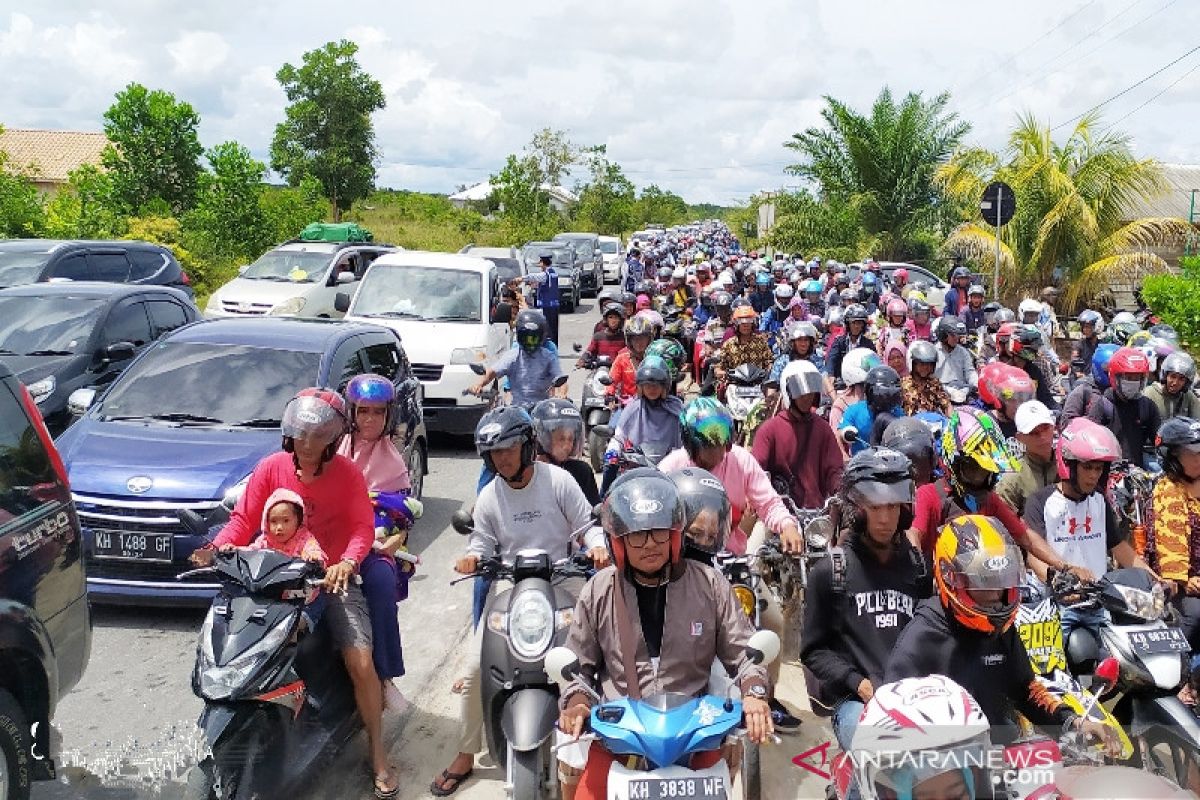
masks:
{"label": "dark vehicle with turbo lettering cut off at left edge", "polygon": [[91,652],[79,521],[50,434],[0,362],[0,796],[54,777],[50,721]]}

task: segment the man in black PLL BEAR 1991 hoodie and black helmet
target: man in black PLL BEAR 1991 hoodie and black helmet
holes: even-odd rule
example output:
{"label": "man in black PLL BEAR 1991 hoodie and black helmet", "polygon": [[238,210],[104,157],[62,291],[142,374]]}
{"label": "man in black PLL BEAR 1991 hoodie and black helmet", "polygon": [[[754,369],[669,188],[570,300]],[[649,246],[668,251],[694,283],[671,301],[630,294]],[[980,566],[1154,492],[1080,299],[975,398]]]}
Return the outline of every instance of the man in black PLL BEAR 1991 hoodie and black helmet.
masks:
{"label": "man in black PLL BEAR 1991 hoodie and black helmet", "polygon": [[931,593],[925,564],[905,536],[912,524],[912,465],[882,447],[846,464],[839,499],[847,546],[817,563],[805,590],[800,661],[812,699],[833,710],[850,750],[863,705],[913,608]]}

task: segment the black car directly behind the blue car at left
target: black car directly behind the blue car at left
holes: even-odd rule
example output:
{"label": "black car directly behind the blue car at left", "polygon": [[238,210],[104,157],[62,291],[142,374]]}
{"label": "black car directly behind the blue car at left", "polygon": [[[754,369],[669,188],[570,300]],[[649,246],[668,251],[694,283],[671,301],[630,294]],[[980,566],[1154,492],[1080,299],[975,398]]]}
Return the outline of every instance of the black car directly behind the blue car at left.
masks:
{"label": "black car directly behind the blue car at left", "polygon": [[32,283],[0,289],[0,361],[29,387],[47,427],[71,423],[67,398],[107,386],[130,359],[200,312],[179,289]]}

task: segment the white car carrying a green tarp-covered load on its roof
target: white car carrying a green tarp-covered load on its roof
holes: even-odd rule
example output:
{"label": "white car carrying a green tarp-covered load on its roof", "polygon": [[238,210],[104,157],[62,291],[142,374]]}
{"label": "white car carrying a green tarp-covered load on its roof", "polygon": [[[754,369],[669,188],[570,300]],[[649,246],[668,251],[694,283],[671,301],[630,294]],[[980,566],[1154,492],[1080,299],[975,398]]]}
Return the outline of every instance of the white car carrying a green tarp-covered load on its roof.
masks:
{"label": "white car carrying a green tarp-covered load on its roof", "polygon": [[[205,317],[310,317],[337,319],[338,291],[359,281],[390,245],[290,241],[244,266],[236,278],[212,293]],[[353,290],[350,287],[349,290]]]}

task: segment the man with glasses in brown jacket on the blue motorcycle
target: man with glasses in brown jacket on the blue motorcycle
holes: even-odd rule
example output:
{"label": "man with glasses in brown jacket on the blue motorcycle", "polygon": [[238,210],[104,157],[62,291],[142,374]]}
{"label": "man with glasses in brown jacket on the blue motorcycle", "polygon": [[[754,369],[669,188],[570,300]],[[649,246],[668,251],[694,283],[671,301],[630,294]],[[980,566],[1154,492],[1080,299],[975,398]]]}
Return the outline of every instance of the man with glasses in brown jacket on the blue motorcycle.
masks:
{"label": "man with glasses in brown jacket on the blue motorcycle", "polygon": [[[581,669],[563,691],[559,728],[572,736],[582,732],[592,704],[583,685],[606,699],[697,697],[708,690],[715,658],[742,690],[751,741],[766,740],[769,686],[767,670],[746,657],[752,630],[728,582],[683,558],[683,504],[674,483],[658,470],[630,470],[612,485],[601,519],[613,566],[588,582],[575,607],[566,646]],[[582,777],[560,765],[566,796],[575,796],[572,782],[586,796],[606,796],[611,760],[593,746]]]}

